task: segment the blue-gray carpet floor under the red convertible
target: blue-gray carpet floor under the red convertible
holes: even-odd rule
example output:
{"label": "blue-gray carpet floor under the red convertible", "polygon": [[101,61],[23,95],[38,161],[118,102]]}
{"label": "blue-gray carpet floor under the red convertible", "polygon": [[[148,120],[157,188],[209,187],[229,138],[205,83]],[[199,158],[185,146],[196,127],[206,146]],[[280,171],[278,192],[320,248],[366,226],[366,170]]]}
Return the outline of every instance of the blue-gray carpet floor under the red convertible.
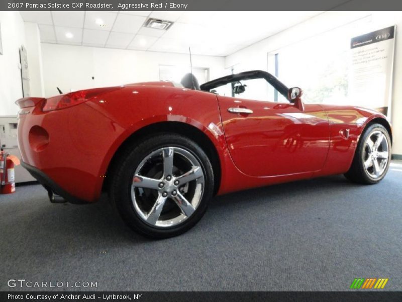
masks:
{"label": "blue-gray carpet floor under the red convertible", "polygon": [[[402,289],[402,163],[373,186],[332,176],[215,198],[189,232],[151,241],[106,200],[51,204],[39,185],[0,195],[0,290],[7,280],[93,281],[86,290]],[[46,289],[46,288],[44,288]],[[80,290],[61,287],[60,290]]]}

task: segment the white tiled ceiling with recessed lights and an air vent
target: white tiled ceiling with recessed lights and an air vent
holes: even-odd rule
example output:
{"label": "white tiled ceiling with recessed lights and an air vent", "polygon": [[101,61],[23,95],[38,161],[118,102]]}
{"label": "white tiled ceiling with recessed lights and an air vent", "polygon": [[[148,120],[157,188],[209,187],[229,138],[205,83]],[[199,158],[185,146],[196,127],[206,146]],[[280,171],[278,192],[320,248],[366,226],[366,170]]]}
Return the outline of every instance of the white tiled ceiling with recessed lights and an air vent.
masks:
{"label": "white tiled ceiling with recessed lights and an air vent", "polygon": [[[188,53],[190,46],[193,54],[226,56],[321,12],[20,13],[24,21],[38,23],[45,43],[178,53]],[[148,17],[174,24],[167,31],[145,28]]]}

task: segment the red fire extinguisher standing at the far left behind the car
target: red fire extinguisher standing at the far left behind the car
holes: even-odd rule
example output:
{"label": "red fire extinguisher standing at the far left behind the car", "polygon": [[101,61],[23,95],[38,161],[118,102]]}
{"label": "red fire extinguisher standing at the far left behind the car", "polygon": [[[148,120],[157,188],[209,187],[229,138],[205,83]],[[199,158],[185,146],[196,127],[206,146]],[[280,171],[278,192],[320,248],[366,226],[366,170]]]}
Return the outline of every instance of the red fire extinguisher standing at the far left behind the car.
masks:
{"label": "red fire extinguisher standing at the far left behind the car", "polygon": [[0,193],[10,194],[16,191],[15,166],[20,164],[20,160],[0,149]]}

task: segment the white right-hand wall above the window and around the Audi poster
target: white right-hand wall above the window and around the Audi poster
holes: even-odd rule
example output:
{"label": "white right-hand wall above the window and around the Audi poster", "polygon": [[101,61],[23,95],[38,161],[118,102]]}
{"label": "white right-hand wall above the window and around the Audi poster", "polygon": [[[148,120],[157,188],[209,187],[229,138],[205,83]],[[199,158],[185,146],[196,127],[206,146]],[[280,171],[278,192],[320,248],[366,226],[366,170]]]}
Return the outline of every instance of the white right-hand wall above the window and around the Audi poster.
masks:
{"label": "white right-hand wall above the window and around the Audi poster", "polygon": [[[236,71],[267,69],[268,53],[297,41],[310,38],[336,27],[369,16],[367,29],[362,33],[396,24],[395,60],[392,90],[392,154],[402,155],[402,13],[401,12],[325,12],[294,27],[239,50],[225,59],[225,67],[236,66]],[[299,72],[303,72],[300,70]]]}

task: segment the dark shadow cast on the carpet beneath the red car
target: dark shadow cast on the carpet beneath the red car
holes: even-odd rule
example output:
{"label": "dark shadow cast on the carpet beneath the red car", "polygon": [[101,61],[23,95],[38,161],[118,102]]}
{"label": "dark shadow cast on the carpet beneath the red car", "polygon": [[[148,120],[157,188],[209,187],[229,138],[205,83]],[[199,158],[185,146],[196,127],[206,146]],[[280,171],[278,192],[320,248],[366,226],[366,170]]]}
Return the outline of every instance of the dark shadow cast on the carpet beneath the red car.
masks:
{"label": "dark shadow cast on the carpet beneath the red car", "polygon": [[[202,219],[202,224],[208,223],[210,226],[214,223],[219,224],[221,222],[217,221],[216,216],[242,211],[243,207],[250,205],[282,202],[282,199],[286,199],[284,202],[298,202],[297,198],[289,200],[289,195],[306,196],[328,192],[335,188],[347,191],[356,189],[356,186],[358,185],[351,184],[343,176],[330,176],[226,194],[215,197],[211,201],[210,208]],[[35,195],[34,200],[24,200],[24,203],[35,203],[35,205],[30,205],[35,208],[24,209],[21,217],[25,230],[27,230],[25,235],[30,236],[31,240],[43,242],[48,237],[54,237],[54,240],[63,238],[66,241],[77,241],[85,243],[85,245],[98,245],[100,241],[105,242],[108,246],[119,246],[125,242],[143,244],[150,241],[133,232],[122,221],[114,207],[109,204],[107,195],[103,195],[94,204],[75,205],[51,204],[47,201],[46,191],[42,192],[38,188],[38,193],[40,193],[37,194],[39,196]],[[8,230],[9,226],[6,224],[3,225],[3,228]],[[202,236],[203,231],[197,230],[195,233],[197,236]]]}

